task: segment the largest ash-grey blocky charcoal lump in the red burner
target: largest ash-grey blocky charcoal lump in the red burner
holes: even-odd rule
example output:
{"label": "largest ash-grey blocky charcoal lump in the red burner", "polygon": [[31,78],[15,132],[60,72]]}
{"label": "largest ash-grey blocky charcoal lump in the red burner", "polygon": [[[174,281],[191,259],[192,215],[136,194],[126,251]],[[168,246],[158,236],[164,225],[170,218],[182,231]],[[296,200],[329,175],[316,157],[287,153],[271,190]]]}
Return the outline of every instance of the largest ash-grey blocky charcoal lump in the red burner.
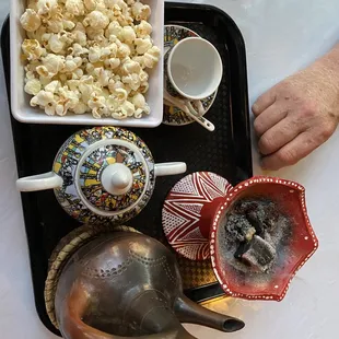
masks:
{"label": "largest ash-grey blocky charcoal lump in the red burner", "polygon": [[255,271],[266,272],[277,258],[276,249],[264,238],[255,235],[247,246],[239,247],[235,254]]}

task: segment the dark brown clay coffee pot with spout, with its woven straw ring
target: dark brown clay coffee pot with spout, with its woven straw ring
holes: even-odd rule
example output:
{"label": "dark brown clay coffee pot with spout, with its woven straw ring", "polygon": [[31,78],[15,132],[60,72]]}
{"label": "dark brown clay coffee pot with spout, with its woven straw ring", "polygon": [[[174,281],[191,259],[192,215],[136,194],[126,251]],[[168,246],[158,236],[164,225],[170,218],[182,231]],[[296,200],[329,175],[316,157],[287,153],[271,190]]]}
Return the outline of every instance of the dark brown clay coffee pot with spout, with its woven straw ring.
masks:
{"label": "dark brown clay coffee pot with spout, with its woven straw ring", "polygon": [[66,339],[195,338],[180,322],[224,332],[244,327],[185,297],[176,258],[156,239],[127,227],[77,232],[55,250],[45,289]]}

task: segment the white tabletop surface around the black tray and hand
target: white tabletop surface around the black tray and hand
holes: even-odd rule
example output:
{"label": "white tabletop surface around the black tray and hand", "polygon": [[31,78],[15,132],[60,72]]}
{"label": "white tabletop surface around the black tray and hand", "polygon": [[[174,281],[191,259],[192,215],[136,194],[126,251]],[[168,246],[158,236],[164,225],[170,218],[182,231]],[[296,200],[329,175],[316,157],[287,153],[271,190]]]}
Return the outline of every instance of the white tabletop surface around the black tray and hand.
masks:
{"label": "white tabletop surface around the black tray and hand", "polygon": [[[327,51],[339,38],[338,0],[187,1],[223,8],[241,27],[247,46],[250,102],[285,75]],[[0,0],[0,21],[10,0]],[[40,324],[34,306],[28,254],[19,194],[2,65],[0,67],[0,338],[56,338]],[[335,339],[339,302],[339,136],[293,168],[274,175],[306,187],[309,218],[320,247],[295,278],[282,303],[235,301],[225,309],[246,322],[236,335],[198,326],[198,338]],[[259,173],[256,166],[256,174]],[[48,168],[46,168],[47,171]]]}

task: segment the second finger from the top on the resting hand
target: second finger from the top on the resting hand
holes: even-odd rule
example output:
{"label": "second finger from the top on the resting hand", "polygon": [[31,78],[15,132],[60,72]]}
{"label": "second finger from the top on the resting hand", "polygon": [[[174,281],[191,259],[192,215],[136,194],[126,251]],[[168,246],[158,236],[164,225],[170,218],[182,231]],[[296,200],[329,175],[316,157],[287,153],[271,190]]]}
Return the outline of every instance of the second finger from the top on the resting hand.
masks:
{"label": "second finger from the top on the resting hand", "polygon": [[261,137],[266,131],[283,120],[289,114],[289,109],[274,103],[260,114],[254,121],[257,136]]}

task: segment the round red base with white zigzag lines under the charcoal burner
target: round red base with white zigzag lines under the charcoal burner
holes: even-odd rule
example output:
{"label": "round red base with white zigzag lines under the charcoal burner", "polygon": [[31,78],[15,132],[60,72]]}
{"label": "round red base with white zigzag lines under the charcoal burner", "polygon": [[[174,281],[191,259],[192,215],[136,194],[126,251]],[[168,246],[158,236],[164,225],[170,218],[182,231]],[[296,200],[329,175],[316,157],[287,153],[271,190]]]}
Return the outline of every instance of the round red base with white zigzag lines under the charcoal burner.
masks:
{"label": "round red base with white zigzag lines under the charcoal burner", "polygon": [[232,189],[223,177],[209,172],[194,173],[178,182],[166,198],[162,221],[171,246],[191,260],[210,257],[210,213]]}

